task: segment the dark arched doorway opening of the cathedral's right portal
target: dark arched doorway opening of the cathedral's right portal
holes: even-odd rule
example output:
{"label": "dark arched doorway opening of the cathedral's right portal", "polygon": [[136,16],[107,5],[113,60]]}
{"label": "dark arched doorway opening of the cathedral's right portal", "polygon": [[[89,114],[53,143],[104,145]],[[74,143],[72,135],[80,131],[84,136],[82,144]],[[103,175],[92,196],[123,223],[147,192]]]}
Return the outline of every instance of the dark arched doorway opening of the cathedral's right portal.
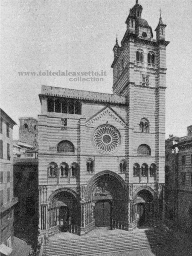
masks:
{"label": "dark arched doorway opening of the cathedral's right portal", "polygon": [[147,189],[142,189],[136,197],[137,224],[151,224],[154,216],[154,197]]}

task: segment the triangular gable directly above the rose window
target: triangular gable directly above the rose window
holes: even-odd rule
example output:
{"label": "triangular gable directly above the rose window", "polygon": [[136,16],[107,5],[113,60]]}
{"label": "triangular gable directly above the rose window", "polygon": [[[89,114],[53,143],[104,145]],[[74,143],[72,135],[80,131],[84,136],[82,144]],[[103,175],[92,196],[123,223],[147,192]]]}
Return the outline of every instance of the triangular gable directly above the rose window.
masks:
{"label": "triangular gable directly above the rose window", "polygon": [[86,126],[94,127],[100,123],[109,122],[110,124],[121,126],[122,128],[127,128],[127,123],[125,120],[119,116],[111,107],[107,106],[101,111],[97,112],[91,116],[87,122]]}

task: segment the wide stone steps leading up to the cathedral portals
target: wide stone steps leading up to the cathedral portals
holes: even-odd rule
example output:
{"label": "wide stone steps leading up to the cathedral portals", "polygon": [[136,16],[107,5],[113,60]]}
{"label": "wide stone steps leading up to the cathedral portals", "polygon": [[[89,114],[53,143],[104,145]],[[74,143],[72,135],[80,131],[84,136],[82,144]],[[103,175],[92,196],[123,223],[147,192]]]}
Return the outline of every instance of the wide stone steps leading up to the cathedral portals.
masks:
{"label": "wide stone steps leading up to the cathedral portals", "polygon": [[109,230],[96,228],[85,236],[58,233],[49,238],[46,256],[92,256],[166,244],[165,233],[158,229]]}

